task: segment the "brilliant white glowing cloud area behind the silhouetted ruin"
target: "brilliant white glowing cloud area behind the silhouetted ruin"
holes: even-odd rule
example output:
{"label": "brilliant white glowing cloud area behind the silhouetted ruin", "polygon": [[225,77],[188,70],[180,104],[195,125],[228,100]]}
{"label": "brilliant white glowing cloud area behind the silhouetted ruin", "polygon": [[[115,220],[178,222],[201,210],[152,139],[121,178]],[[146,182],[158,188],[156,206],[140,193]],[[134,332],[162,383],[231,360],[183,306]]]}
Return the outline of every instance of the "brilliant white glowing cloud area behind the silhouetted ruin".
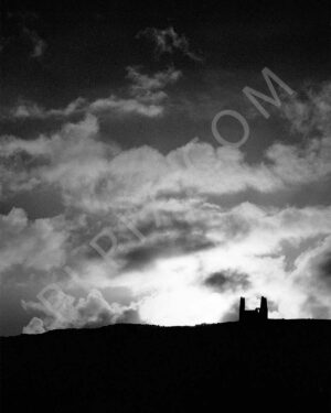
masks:
{"label": "brilliant white glowing cloud area behind the silhouetted ruin", "polygon": [[[288,268],[287,246],[300,248],[303,241],[311,240],[313,244],[316,237],[328,236],[330,208],[284,211],[244,204],[231,211],[220,209],[212,216],[207,208],[188,208],[190,213],[201,215],[206,229],[200,238],[210,240],[206,247],[196,243],[193,251],[179,247],[169,253],[164,241],[175,247],[177,233],[163,231],[161,227],[157,238],[146,235],[143,244],[147,251],[150,248],[151,254],[143,257],[142,265],[141,262],[126,264],[126,260],[132,260],[135,243],[140,242],[134,242],[135,235],[131,235],[134,243],[126,244],[118,250],[118,257],[113,257],[124,260],[118,275],[109,279],[107,267],[98,265],[99,276],[108,280],[108,286],[126,287],[134,296],[143,297],[138,307],[143,320],[162,325],[214,323],[242,294],[252,306],[260,294],[267,295],[277,303],[273,317],[302,314],[308,291],[307,286],[300,286],[305,273],[300,272],[297,278],[297,267]],[[178,221],[178,217],[173,219]],[[190,221],[186,242],[199,233],[199,226],[197,219]],[[163,256],[152,253],[158,244]],[[90,276],[95,270],[94,267]],[[311,308],[305,314],[311,316]]]}

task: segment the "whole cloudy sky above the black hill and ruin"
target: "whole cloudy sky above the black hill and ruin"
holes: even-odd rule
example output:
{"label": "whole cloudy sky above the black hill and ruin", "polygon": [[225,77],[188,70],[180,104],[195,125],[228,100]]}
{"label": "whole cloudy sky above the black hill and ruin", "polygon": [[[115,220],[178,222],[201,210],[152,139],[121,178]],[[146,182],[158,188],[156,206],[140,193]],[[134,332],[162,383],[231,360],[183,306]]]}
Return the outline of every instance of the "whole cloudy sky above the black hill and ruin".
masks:
{"label": "whole cloudy sky above the black hill and ruin", "polygon": [[331,317],[328,2],[256,3],[4,4],[0,335]]}

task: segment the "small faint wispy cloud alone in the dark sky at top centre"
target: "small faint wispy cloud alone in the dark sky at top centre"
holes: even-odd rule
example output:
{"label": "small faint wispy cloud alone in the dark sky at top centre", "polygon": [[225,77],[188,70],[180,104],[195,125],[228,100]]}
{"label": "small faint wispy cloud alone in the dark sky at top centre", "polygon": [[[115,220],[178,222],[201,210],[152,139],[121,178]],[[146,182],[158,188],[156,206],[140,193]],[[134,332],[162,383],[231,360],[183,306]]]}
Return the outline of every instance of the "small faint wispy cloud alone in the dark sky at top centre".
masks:
{"label": "small faint wispy cloud alone in the dark sky at top centre", "polygon": [[178,34],[172,26],[167,29],[147,28],[137,34],[137,37],[147,37],[154,43],[157,55],[163,53],[173,54],[180,51],[194,62],[203,62],[203,57],[192,52],[188,39],[182,34]]}

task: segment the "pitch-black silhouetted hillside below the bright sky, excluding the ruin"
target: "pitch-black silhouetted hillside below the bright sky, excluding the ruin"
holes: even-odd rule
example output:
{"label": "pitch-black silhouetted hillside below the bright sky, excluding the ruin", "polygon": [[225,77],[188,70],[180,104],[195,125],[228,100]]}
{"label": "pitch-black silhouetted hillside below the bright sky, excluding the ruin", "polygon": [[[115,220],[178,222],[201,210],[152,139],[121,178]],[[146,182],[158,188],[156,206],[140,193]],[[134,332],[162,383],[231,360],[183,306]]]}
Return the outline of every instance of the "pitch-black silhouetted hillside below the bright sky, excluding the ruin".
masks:
{"label": "pitch-black silhouetted hillside below the bright sky, excluding the ruin", "polygon": [[331,322],[1,338],[1,412],[331,412]]}

